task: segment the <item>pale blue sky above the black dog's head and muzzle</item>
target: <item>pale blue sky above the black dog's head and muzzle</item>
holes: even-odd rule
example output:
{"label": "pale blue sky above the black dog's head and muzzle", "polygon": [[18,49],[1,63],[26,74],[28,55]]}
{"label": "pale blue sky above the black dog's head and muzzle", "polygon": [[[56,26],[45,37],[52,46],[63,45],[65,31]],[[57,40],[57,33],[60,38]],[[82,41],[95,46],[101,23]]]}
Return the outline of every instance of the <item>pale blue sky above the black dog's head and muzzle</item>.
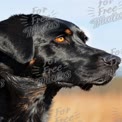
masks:
{"label": "pale blue sky above the black dog's head and muzzle", "polygon": [[40,14],[71,21],[88,45],[122,58],[122,0],[1,0],[0,21],[15,14]]}

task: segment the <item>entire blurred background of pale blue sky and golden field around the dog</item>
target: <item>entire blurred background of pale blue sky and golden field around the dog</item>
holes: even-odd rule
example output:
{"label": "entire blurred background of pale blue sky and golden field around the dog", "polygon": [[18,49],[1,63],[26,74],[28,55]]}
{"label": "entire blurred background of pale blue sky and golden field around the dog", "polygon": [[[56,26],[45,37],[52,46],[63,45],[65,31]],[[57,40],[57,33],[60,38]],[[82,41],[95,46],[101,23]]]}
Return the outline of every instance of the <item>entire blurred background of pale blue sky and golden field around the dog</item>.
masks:
{"label": "entire blurred background of pale blue sky and golden field around the dog", "polygon": [[[71,21],[89,36],[88,45],[122,58],[121,0],[1,0],[0,21],[15,14],[40,14]],[[84,92],[62,89],[49,122],[122,122],[122,64],[106,86]]]}

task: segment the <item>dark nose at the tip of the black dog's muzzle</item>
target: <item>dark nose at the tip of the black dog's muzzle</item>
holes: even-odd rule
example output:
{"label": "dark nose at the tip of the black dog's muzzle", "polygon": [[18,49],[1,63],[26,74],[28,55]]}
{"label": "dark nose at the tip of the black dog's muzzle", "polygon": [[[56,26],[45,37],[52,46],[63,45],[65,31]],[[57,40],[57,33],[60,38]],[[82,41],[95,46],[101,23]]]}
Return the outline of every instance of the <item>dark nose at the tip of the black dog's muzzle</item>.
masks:
{"label": "dark nose at the tip of the black dog's muzzle", "polygon": [[121,63],[121,59],[118,56],[114,56],[114,55],[103,57],[103,61],[105,64],[109,66],[119,65]]}

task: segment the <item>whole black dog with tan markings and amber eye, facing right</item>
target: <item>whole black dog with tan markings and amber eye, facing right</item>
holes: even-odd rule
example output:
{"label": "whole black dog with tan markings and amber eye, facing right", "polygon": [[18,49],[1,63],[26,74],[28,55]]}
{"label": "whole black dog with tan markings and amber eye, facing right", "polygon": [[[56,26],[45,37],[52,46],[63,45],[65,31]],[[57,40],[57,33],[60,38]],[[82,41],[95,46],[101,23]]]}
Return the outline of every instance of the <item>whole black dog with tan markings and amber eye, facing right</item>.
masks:
{"label": "whole black dog with tan markings and amber eye, facing right", "polygon": [[89,47],[73,23],[40,15],[0,22],[0,121],[47,122],[62,87],[89,90],[112,80],[121,60]]}

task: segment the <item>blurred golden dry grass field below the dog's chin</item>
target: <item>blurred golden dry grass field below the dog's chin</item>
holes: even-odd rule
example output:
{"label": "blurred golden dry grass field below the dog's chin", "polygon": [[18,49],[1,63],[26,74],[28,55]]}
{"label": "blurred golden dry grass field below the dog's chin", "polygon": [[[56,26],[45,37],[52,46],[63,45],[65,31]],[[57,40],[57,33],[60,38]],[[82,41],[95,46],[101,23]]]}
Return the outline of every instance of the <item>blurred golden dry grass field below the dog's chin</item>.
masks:
{"label": "blurred golden dry grass field below the dog's chin", "polygon": [[122,122],[122,78],[89,92],[62,89],[53,102],[49,122]]}

